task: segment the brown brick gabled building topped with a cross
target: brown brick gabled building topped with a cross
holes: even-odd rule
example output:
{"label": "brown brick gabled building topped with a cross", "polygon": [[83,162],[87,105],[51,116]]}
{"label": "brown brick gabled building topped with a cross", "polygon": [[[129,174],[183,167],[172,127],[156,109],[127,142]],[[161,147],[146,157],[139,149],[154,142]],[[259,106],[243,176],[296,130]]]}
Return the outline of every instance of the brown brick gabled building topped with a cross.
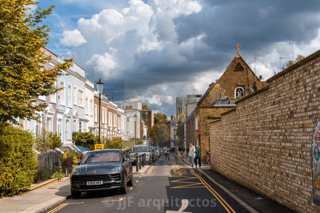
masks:
{"label": "brown brick gabled building topped with a cross", "polygon": [[244,98],[249,94],[249,87],[255,91],[255,82],[260,79],[254,74],[249,65],[244,61],[238,52],[231,61],[227,69],[216,80],[211,83],[204,93],[204,96],[196,104],[195,110],[187,117],[186,121],[186,143],[199,144],[201,147],[201,160],[205,161],[205,151],[210,150],[210,126],[211,121],[220,119],[220,114],[236,107],[231,101],[225,103],[214,102],[210,97],[210,91],[213,88],[223,88],[224,96],[229,98]]}

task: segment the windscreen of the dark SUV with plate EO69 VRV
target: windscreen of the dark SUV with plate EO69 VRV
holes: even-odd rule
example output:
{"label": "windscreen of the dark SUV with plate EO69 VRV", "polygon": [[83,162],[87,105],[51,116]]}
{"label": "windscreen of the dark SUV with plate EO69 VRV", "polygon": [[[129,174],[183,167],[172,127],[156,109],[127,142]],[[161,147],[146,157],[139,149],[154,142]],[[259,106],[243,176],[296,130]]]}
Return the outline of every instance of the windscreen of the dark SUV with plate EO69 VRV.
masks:
{"label": "windscreen of the dark SUV with plate EO69 VRV", "polygon": [[118,151],[87,153],[82,160],[82,164],[108,161],[120,161],[120,153]]}

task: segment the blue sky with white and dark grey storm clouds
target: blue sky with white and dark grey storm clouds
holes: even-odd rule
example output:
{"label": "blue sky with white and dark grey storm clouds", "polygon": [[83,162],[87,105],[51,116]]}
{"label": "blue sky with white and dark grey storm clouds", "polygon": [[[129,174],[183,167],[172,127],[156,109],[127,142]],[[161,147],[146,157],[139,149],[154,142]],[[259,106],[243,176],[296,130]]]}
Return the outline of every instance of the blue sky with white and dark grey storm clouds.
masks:
{"label": "blue sky with white and dark grey storm clouds", "polygon": [[[320,1],[50,0],[47,46],[72,57],[114,102],[176,114],[175,99],[204,94],[236,56],[263,80],[320,49]],[[280,57],[284,58],[280,61]],[[110,95],[109,95],[110,96]],[[108,97],[109,97],[108,96]]]}

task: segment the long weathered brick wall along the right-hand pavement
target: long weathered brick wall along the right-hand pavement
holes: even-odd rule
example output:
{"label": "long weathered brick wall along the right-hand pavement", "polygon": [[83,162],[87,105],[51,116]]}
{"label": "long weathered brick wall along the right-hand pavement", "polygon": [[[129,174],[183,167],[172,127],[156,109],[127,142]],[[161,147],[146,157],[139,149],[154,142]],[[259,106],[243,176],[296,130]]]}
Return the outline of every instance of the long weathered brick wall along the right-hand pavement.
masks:
{"label": "long weathered brick wall along the right-hand pavement", "polygon": [[320,50],[267,82],[210,123],[211,169],[297,212],[320,212],[311,174]]}

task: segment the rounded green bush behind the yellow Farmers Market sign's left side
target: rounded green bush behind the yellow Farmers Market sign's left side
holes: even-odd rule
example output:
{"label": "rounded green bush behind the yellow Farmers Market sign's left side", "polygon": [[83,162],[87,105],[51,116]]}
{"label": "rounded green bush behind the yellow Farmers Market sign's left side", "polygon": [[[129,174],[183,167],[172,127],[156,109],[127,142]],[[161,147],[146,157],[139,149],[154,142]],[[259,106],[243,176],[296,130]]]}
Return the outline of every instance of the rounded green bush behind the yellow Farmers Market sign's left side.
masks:
{"label": "rounded green bush behind the yellow Farmers Market sign's left side", "polygon": [[94,136],[90,132],[72,132],[72,140],[76,146],[88,147],[94,150],[94,144],[98,143],[99,136]]}

